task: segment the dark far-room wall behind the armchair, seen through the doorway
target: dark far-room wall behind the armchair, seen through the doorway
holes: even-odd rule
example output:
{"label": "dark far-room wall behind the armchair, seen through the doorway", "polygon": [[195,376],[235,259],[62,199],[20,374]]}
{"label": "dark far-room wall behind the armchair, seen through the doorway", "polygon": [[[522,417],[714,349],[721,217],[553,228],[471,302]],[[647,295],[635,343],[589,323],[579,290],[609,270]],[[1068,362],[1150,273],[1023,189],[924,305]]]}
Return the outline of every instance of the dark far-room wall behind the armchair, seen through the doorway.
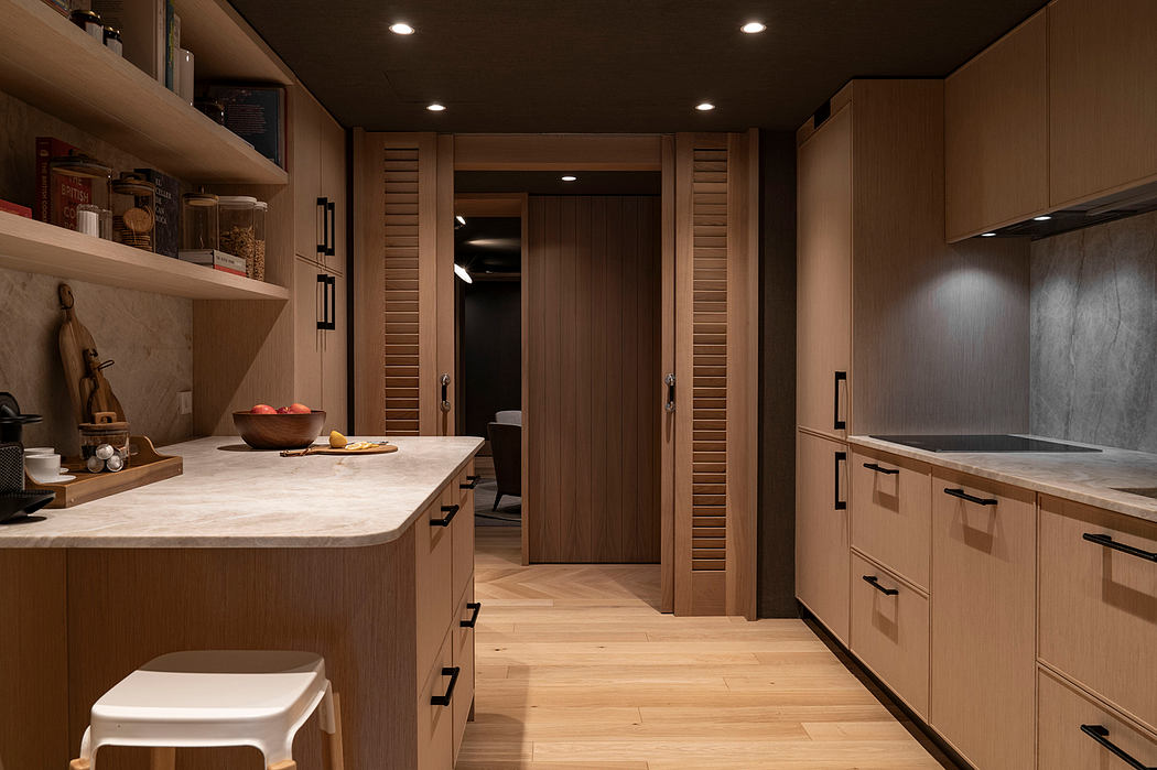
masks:
{"label": "dark far-room wall behind the armchair, seen through the doorway", "polygon": [[462,335],[466,436],[485,437],[495,412],[522,408],[521,297],[518,281],[476,281],[466,287]]}

